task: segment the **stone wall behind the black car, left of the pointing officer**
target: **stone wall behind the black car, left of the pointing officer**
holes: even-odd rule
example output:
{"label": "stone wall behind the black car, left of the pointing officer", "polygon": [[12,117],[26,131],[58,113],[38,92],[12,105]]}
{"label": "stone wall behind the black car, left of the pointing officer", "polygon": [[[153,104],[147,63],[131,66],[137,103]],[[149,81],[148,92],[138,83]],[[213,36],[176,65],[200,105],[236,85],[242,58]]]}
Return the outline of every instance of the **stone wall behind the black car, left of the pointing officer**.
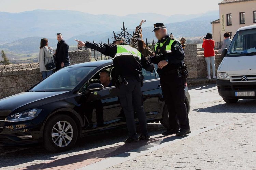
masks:
{"label": "stone wall behind the black car, left of the pointing officer", "polygon": [[[91,61],[91,51],[71,51],[72,64]],[[42,79],[39,63],[0,65],[0,99],[26,91]]]}

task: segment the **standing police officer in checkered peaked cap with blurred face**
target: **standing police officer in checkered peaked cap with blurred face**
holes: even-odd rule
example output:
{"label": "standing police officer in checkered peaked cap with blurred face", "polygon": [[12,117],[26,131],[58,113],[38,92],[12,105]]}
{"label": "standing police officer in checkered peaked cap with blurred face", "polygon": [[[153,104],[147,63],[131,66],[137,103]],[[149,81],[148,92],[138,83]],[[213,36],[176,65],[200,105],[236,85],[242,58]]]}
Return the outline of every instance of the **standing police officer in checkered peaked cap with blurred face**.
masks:
{"label": "standing police officer in checkered peaked cap with blurred face", "polygon": [[162,135],[176,133],[185,136],[191,133],[185,105],[186,76],[181,69],[185,54],[180,41],[167,34],[163,23],[154,24],[153,31],[158,42],[155,56],[147,59],[158,66],[157,72],[169,114],[169,128]]}

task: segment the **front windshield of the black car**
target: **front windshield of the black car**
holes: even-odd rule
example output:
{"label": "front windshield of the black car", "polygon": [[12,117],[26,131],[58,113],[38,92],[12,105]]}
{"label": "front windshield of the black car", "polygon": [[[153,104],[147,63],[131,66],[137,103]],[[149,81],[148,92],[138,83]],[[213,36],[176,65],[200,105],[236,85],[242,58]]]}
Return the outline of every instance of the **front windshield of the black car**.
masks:
{"label": "front windshield of the black car", "polygon": [[53,73],[38,85],[30,89],[32,92],[71,91],[95,67],[67,67]]}

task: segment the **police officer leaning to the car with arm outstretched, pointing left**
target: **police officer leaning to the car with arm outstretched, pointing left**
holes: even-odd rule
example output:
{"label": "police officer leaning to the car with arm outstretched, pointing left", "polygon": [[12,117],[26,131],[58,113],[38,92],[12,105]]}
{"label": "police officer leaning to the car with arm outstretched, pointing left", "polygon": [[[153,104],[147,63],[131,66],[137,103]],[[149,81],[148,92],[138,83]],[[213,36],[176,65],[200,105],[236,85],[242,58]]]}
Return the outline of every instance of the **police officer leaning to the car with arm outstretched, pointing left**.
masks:
{"label": "police officer leaning to the car with arm outstretched, pointing left", "polygon": [[[130,47],[123,38],[117,37],[112,44],[96,44],[76,40],[80,47],[85,46],[113,58],[113,64],[118,75],[119,99],[126,117],[129,137],[125,143],[147,140],[146,115],[142,106],[141,86],[143,83],[142,67],[153,71],[154,66],[141,53]],[[137,138],[134,112],[139,119],[141,135]]]}

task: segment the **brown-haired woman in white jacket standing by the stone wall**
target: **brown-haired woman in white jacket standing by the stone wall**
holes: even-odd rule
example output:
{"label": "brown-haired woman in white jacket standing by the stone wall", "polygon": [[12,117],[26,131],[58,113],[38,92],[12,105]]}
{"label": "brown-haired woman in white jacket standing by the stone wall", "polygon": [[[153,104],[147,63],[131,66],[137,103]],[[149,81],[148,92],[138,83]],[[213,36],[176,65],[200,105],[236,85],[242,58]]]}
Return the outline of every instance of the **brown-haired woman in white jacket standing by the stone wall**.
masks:
{"label": "brown-haired woman in white jacket standing by the stone wall", "polygon": [[40,51],[38,55],[38,61],[39,61],[39,71],[42,73],[43,79],[47,76],[51,75],[53,73],[53,69],[46,70],[45,65],[48,63],[51,63],[53,61],[53,55],[55,52],[53,51],[52,47],[48,47],[48,39],[43,38],[40,42]]}

